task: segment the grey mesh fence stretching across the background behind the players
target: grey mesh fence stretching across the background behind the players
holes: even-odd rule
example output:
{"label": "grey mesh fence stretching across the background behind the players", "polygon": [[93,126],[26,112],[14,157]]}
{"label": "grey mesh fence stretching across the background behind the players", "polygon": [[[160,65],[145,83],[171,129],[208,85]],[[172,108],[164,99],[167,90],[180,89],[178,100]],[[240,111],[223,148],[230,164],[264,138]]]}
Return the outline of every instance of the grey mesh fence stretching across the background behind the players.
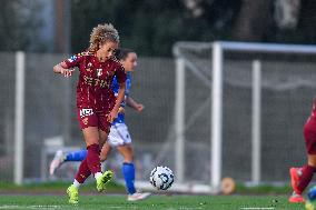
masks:
{"label": "grey mesh fence stretching across the background behind the players", "polygon": [[[48,162],[59,148],[85,148],[76,116],[76,82],[52,72],[67,54],[26,53],[23,103],[23,181],[73,179],[76,167],[63,166],[48,177]],[[195,61],[211,79],[210,53]],[[224,74],[223,176],[251,179],[251,60],[228,56]],[[0,53],[0,182],[13,181],[18,153],[14,139],[17,53]],[[315,62],[308,58],[268,58],[263,61],[261,180],[287,181],[288,167],[305,161],[302,129],[315,91]],[[210,89],[186,67],[184,181],[210,180]],[[139,58],[132,74],[131,97],[145,104],[142,113],[127,110],[134,141],[137,179],[148,180],[157,164],[176,162],[176,66],[174,59]],[[61,138],[59,138],[61,137]],[[117,178],[121,159],[113,150],[106,163]],[[177,171],[176,171],[177,178]]]}

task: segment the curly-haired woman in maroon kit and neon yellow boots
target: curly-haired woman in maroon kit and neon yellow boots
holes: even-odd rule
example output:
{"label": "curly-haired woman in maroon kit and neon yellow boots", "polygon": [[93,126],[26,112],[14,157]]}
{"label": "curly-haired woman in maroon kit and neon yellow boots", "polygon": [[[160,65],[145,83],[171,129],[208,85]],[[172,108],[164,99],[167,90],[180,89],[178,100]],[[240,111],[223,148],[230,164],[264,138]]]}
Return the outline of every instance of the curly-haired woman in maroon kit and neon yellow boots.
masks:
{"label": "curly-haired woman in maroon kit and neon yellow boots", "polygon": [[[119,44],[118,31],[112,24],[98,24],[90,36],[88,51],[72,56],[53,67],[53,72],[72,76],[72,68],[79,68],[77,84],[78,120],[87,144],[87,157],[82,160],[73,183],[67,189],[70,203],[78,203],[78,189],[92,173],[97,190],[103,191],[112,178],[111,171],[101,172],[100,148],[108,138],[110,123],[118,114],[125,96],[126,73],[112,58]],[[119,83],[115,96],[111,86],[113,77]]]}

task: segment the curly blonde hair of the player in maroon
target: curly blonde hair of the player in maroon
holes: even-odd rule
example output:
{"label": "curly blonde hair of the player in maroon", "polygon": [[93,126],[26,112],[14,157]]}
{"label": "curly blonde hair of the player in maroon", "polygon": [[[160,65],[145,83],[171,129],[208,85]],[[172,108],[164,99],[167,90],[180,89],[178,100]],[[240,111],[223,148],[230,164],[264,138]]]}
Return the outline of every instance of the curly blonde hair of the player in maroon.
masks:
{"label": "curly blonde hair of the player in maroon", "polygon": [[90,34],[89,51],[96,52],[107,41],[119,42],[118,31],[111,23],[98,24]]}

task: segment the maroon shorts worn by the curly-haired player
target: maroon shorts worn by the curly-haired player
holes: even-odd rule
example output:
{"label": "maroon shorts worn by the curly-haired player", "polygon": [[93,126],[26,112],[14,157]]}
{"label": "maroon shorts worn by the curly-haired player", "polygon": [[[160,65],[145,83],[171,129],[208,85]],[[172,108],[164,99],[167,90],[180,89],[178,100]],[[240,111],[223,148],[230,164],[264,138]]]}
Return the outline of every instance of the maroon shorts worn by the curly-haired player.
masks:
{"label": "maroon shorts worn by the curly-haired player", "polygon": [[79,120],[80,129],[88,127],[98,127],[105,132],[109,132],[111,123],[108,121],[109,111],[95,111],[90,108],[78,108],[77,117]]}

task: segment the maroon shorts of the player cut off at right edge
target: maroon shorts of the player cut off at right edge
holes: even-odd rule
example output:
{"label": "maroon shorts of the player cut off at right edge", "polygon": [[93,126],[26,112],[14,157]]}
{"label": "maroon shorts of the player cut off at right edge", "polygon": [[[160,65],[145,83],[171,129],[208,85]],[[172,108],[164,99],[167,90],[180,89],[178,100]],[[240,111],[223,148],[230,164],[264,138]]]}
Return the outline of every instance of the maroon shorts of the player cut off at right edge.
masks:
{"label": "maroon shorts of the player cut off at right edge", "polygon": [[304,126],[304,138],[308,154],[316,154],[316,119],[309,117]]}

